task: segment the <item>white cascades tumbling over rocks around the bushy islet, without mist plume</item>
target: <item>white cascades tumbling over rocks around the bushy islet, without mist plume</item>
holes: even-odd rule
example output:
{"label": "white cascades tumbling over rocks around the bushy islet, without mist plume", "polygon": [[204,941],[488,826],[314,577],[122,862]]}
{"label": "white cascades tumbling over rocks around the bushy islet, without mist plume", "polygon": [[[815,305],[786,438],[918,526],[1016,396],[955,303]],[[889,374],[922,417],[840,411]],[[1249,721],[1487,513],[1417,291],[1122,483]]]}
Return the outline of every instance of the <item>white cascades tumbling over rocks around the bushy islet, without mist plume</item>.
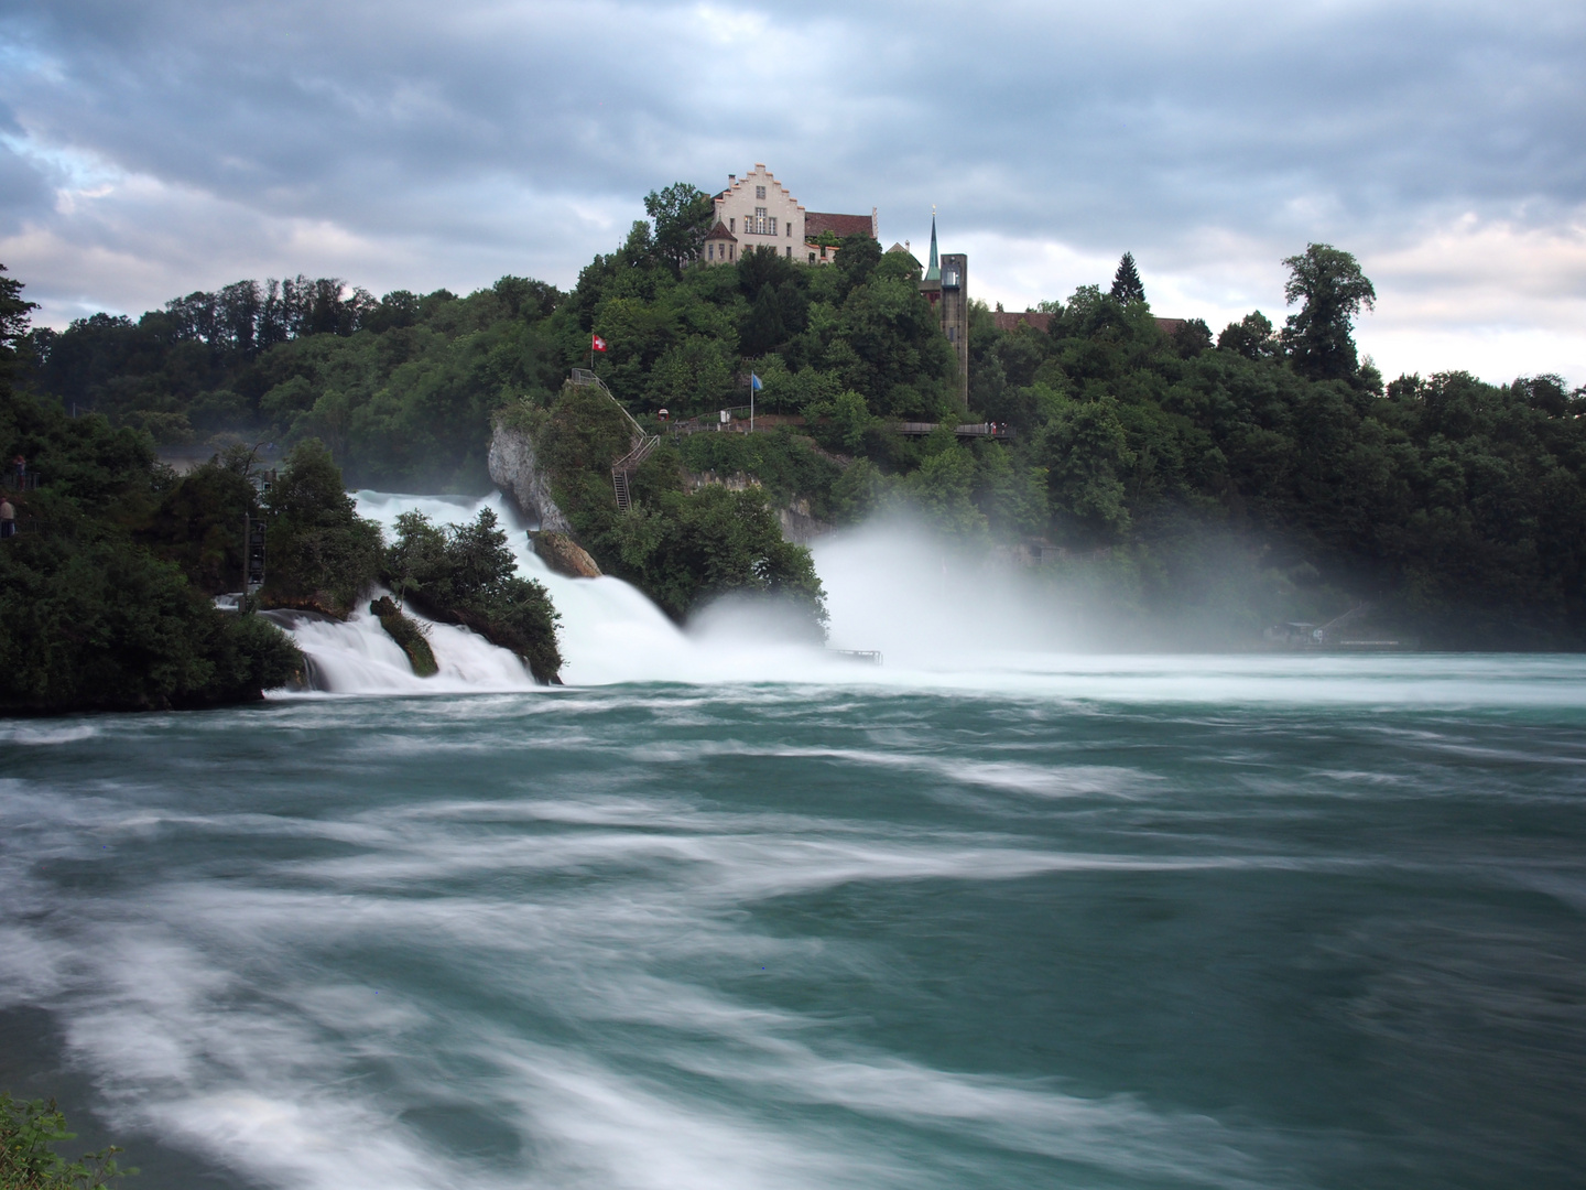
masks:
{"label": "white cascades tumbling over rocks around the bushy islet, without mist plume", "polygon": [[[462,524],[492,508],[508,530],[519,573],[542,582],[561,614],[561,681],[611,682],[829,681],[853,676],[850,658],[790,643],[764,620],[715,617],[706,630],[684,633],[634,587],[614,578],[569,579],[549,570],[500,492],[484,498],[358,492],[358,514],[395,535],[396,517],[423,512],[439,525]],[[409,611],[409,614],[412,614]],[[533,679],[506,649],[446,624],[425,624],[441,673],[416,678],[406,655],[362,605],[347,622],[287,617],[281,622],[308,654],[314,684],[335,693],[444,693],[525,690]]]}

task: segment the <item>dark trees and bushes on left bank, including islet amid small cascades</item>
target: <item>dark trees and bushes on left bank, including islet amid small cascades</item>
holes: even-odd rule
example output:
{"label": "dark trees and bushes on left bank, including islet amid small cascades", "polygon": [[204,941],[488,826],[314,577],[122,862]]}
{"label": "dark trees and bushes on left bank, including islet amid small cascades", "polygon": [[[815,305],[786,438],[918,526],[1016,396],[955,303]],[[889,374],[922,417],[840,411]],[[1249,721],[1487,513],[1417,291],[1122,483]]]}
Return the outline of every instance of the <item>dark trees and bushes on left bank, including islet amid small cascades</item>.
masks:
{"label": "dark trees and bushes on left bank, including islet amid small cascades", "polygon": [[[305,674],[292,641],[254,612],[346,616],[376,582],[409,584],[436,619],[476,628],[555,681],[555,609],[539,584],[512,574],[488,516],[414,522],[387,544],[314,438],[293,446],[274,482],[241,444],[179,476],[157,462],[146,428],[17,390],[30,309],[21,284],[0,274],[0,712],[259,700]],[[268,527],[268,581],[225,612],[213,597],[243,585],[249,519]],[[382,622],[412,655],[419,643],[403,639],[412,622],[390,612]]]}

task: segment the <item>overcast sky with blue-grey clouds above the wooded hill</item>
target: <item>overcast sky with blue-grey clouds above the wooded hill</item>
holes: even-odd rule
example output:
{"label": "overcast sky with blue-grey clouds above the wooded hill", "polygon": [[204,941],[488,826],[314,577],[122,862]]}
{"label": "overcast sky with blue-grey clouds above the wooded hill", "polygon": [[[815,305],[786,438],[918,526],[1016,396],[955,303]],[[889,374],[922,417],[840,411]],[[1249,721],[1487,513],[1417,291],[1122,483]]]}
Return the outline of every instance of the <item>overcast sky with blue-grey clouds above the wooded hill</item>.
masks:
{"label": "overcast sky with blue-grey clouds above the wooded hill", "polygon": [[0,0],[0,262],[65,325],[295,273],[571,286],[766,162],[1023,309],[1354,252],[1389,376],[1586,382],[1586,5]]}

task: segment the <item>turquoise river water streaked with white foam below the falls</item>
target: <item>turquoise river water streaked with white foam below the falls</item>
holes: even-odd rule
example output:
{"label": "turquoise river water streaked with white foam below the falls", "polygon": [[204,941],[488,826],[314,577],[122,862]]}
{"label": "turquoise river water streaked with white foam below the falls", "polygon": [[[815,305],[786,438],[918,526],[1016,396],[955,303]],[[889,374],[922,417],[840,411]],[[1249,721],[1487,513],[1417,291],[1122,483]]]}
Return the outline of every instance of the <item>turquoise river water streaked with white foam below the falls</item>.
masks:
{"label": "turquoise river water streaked with white foam below the falls", "polygon": [[883,678],[6,725],[13,1055],[136,1190],[1586,1180],[1586,663]]}

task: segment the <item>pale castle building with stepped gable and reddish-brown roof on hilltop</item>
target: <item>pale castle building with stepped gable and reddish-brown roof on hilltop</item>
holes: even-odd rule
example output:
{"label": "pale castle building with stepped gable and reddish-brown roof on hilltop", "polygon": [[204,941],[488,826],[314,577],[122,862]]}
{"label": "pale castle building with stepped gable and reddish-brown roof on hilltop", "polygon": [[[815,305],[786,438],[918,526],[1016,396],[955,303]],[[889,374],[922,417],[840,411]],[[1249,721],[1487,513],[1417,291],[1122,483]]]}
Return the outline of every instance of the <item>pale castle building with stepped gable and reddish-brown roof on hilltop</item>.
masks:
{"label": "pale castle building with stepped gable and reddish-brown roof on hilltop", "polygon": [[752,248],[769,248],[804,265],[828,265],[837,249],[822,238],[855,233],[880,240],[874,206],[868,216],[806,211],[771,170],[757,163],[742,178],[728,175],[726,189],[715,195],[715,227],[704,240],[704,262],[726,265]]}

